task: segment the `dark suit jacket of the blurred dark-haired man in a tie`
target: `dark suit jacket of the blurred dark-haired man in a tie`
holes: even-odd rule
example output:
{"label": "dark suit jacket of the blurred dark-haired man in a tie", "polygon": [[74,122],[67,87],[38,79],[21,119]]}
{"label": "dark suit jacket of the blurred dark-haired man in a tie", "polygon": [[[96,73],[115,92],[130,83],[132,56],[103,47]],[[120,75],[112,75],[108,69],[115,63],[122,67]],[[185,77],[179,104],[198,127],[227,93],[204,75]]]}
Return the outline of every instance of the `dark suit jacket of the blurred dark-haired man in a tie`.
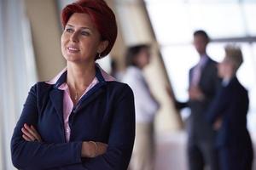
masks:
{"label": "dark suit jacket of the blurred dark-haired man in a tie", "polygon": [[[192,74],[195,67],[189,71],[189,86],[192,81]],[[207,109],[220,84],[220,79],[217,73],[217,63],[208,58],[206,65],[201,71],[201,79],[199,88],[205,95],[205,99],[192,100],[189,99],[188,105],[191,110],[189,116],[189,143],[193,144],[197,141],[213,141],[214,132],[210,124],[205,120]]]}

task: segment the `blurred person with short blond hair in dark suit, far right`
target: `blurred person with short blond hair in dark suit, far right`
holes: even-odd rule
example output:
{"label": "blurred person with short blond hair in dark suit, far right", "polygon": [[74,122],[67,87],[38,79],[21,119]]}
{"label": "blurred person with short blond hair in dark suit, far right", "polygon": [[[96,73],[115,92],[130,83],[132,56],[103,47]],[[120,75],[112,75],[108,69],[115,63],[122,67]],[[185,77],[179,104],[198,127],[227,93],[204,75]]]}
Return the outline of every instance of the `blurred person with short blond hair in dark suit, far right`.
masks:
{"label": "blurred person with short blond hair in dark suit, far right", "polygon": [[253,147],[247,131],[248,93],[236,77],[242,62],[239,47],[225,47],[224,60],[218,65],[222,87],[207,114],[207,120],[218,130],[216,144],[221,170],[252,169]]}

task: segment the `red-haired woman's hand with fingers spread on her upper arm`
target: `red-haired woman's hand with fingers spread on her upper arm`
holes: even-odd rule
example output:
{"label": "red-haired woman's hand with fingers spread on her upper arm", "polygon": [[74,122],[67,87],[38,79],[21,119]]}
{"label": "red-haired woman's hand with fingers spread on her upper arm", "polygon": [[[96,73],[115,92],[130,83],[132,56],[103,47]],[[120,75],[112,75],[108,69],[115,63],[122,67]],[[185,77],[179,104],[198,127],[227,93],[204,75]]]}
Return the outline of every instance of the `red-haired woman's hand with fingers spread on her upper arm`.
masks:
{"label": "red-haired woman's hand with fingers spread on her upper arm", "polygon": [[38,141],[42,142],[41,136],[39,135],[38,131],[36,130],[35,127],[28,126],[26,123],[24,126],[21,128],[21,131],[23,133],[22,138],[25,139],[26,141]]}

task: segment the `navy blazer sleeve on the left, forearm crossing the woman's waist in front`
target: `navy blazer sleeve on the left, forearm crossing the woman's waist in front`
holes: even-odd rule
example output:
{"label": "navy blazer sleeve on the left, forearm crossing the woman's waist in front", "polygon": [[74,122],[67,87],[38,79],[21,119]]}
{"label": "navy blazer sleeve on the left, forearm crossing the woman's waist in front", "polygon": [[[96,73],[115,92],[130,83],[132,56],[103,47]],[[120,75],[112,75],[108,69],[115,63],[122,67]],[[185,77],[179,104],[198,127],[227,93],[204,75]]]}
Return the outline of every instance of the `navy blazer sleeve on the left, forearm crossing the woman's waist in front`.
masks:
{"label": "navy blazer sleeve on the left, forearm crossing the woman's waist in front", "polygon": [[24,123],[37,125],[37,98],[37,85],[35,85],[28,94],[11,139],[14,166],[19,169],[47,169],[81,163],[82,142],[45,144],[22,139],[21,127]]}

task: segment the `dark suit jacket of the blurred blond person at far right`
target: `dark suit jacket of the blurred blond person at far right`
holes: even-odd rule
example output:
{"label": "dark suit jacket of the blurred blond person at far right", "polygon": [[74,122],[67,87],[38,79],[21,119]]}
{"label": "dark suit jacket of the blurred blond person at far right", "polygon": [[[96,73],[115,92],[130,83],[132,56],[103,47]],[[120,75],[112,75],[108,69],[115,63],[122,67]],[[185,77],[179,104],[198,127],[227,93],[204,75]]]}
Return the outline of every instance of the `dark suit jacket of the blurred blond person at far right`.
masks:
{"label": "dark suit jacket of the blurred blond person at far right", "polygon": [[251,139],[247,132],[248,111],[247,90],[234,77],[228,86],[220,88],[207,114],[208,122],[215,122],[222,117],[222,125],[218,130],[218,147],[251,147]]}

